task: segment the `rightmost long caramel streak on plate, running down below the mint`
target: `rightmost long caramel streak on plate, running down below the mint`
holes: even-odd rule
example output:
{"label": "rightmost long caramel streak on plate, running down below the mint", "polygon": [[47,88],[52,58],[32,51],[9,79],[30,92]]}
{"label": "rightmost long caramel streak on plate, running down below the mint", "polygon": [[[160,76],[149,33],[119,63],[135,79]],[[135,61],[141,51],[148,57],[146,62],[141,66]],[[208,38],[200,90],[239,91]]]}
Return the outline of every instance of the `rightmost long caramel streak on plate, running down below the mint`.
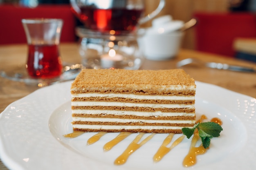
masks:
{"label": "rightmost long caramel streak on plate, running down below the mint", "polygon": [[207,149],[205,149],[202,145],[200,145],[199,147],[195,147],[198,139],[200,139],[198,132],[195,132],[191,141],[189,153],[183,160],[183,166],[193,166],[196,163],[196,155],[202,155],[207,151]]}

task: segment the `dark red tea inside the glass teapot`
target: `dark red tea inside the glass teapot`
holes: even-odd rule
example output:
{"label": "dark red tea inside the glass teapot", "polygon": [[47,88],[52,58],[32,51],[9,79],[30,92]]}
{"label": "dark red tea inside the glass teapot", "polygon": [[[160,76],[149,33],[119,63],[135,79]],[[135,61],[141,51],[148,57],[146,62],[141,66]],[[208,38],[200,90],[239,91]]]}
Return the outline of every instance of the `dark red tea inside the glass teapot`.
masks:
{"label": "dark red tea inside the glass teapot", "polygon": [[143,9],[95,9],[81,7],[79,18],[88,29],[97,31],[133,31]]}

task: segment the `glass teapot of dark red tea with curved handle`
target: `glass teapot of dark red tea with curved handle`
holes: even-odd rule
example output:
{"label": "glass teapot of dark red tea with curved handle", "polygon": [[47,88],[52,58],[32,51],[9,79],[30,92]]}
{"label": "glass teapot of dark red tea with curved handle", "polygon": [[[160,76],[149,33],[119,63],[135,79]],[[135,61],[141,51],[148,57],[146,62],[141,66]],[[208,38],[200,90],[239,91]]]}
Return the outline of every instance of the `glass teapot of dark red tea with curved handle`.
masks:
{"label": "glass teapot of dark red tea with curved handle", "polygon": [[144,0],[70,0],[72,11],[86,29],[132,32],[139,24],[154,18],[164,7],[160,0],[155,11],[143,17]]}

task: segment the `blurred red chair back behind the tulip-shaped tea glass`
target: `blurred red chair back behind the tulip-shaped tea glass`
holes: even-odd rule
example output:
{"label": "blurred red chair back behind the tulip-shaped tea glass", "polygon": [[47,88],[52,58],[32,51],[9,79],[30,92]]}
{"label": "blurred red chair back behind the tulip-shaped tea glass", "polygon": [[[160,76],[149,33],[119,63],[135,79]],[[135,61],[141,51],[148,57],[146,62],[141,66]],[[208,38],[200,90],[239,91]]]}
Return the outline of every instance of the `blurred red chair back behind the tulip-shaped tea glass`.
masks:
{"label": "blurred red chair back behind the tulip-shaped tea glass", "polygon": [[76,39],[76,23],[70,5],[40,5],[36,8],[0,5],[0,44],[27,42],[22,18],[61,18],[64,21],[61,42],[73,42]]}

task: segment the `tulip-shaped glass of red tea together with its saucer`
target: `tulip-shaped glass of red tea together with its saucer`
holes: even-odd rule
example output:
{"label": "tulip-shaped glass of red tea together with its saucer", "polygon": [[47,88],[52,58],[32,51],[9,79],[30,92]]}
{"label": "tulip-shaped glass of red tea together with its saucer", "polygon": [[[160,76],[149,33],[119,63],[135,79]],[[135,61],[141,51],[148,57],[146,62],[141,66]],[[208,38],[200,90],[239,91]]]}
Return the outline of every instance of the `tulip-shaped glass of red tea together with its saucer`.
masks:
{"label": "tulip-shaped glass of red tea together with its saucer", "polygon": [[[52,18],[22,19],[28,55],[26,68],[22,65],[11,70],[0,70],[0,76],[38,87],[74,79],[81,64],[63,64],[59,52],[63,20]],[[64,66],[63,66],[64,65]]]}

